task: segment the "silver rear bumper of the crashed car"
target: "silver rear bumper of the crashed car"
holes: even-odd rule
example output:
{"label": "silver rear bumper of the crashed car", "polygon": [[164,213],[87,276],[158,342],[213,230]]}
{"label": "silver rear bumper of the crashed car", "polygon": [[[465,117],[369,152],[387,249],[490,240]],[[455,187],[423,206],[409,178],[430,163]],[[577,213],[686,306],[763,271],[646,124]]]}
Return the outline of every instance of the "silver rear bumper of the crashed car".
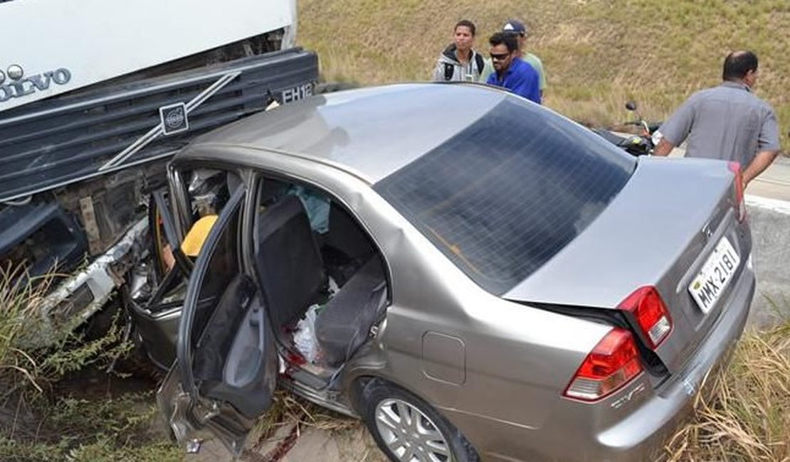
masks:
{"label": "silver rear bumper of the crashed car", "polygon": [[[643,375],[604,401],[562,399],[540,427],[442,409],[485,460],[656,460],[705,378],[728,363],[754,297],[751,258],[719,319],[683,370],[657,391]],[[518,397],[513,397],[517,400]]]}

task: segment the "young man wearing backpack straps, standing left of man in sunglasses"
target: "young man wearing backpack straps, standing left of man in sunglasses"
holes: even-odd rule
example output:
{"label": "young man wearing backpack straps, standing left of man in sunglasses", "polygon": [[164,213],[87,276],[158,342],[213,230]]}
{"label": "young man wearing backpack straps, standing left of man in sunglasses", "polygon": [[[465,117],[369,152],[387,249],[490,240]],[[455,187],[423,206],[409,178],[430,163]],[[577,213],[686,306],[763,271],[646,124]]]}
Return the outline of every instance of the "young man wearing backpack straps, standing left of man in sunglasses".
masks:
{"label": "young man wearing backpack straps, standing left of man in sunglasses", "polygon": [[434,69],[434,80],[450,82],[480,80],[485,62],[474,50],[476,28],[471,20],[460,20],[453,29],[453,43],[439,55]]}

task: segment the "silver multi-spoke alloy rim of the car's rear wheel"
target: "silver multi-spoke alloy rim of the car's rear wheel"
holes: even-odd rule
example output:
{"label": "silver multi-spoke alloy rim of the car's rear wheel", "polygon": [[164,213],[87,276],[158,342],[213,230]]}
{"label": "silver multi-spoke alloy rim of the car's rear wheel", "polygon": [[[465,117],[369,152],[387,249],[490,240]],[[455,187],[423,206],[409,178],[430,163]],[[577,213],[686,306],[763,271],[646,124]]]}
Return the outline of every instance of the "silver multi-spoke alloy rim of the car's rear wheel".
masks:
{"label": "silver multi-spoke alloy rim of the car's rear wheel", "polygon": [[450,445],[433,421],[407,401],[382,400],[376,406],[378,435],[401,462],[450,462]]}

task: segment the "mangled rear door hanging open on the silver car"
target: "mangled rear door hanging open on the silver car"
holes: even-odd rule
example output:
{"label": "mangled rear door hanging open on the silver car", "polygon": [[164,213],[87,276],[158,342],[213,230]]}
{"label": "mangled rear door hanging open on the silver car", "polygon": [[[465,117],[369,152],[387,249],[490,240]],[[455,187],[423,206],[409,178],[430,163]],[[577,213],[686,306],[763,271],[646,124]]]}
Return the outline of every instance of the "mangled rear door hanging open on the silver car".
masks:
{"label": "mangled rear door hanging open on the silver car", "polygon": [[[179,443],[220,439],[238,456],[254,419],[269,408],[277,353],[266,307],[242,255],[246,188],[239,185],[194,263],[179,325],[177,359],[157,402]],[[248,211],[252,214],[252,210]]]}

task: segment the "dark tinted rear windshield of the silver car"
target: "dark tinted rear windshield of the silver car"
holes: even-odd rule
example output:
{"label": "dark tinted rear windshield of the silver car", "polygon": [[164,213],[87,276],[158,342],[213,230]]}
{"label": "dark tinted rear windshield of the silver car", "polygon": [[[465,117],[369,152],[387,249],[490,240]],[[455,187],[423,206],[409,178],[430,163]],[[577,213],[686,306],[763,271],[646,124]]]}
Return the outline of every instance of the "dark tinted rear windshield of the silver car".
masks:
{"label": "dark tinted rear windshield of the silver car", "polygon": [[508,98],[374,189],[501,295],[574,240],[635,166],[587,129]]}

